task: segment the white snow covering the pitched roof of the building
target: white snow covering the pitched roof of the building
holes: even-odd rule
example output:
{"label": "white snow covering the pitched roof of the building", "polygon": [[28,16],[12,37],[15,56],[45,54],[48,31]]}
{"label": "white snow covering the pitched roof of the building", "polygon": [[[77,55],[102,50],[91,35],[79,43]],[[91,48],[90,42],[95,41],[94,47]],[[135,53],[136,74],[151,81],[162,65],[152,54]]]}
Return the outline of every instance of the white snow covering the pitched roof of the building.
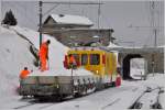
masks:
{"label": "white snow covering the pitched roof of the building", "polygon": [[69,14],[51,14],[51,16],[61,24],[94,25],[94,23],[86,16]]}

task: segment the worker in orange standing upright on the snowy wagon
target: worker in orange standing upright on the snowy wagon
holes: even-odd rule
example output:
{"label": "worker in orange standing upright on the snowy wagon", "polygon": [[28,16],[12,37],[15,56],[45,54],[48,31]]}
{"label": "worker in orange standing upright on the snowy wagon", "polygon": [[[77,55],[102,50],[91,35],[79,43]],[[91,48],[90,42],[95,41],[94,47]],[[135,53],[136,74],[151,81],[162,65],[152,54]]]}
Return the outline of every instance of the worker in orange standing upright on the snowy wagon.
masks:
{"label": "worker in orange standing upright on the snowy wagon", "polygon": [[46,42],[43,42],[40,51],[38,51],[38,57],[41,63],[41,70],[44,72],[47,69],[46,67],[46,59],[48,59],[48,45],[51,44],[51,41],[47,40]]}

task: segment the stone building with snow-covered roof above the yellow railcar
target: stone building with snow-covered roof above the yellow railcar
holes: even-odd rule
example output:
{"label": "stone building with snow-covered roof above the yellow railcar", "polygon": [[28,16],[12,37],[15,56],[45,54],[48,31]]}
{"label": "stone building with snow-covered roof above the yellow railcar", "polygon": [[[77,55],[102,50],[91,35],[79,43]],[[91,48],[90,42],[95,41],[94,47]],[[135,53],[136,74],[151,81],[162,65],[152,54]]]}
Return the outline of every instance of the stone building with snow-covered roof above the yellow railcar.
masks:
{"label": "stone building with snow-covered roof above the yellow railcar", "polygon": [[[43,23],[42,32],[55,36],[67,46],[101,42],[113,42],[111,29],[91,29],[94,23],[86,16],[69,14],[51,14]],[[97,37],[96,37],[97,36]]]}

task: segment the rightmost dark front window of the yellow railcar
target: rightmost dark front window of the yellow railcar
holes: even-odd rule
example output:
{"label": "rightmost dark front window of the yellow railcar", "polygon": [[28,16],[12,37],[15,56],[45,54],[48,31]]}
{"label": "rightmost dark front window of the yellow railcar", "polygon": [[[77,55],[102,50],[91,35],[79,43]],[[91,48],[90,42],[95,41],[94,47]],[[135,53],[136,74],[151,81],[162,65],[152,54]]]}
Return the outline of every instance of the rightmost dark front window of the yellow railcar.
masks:
{"label": "rightmost dark front window of the yellow railcar", "polygon": [[99,65],[100,64],[100,55],[91,54],[90,55],[90,65]]}

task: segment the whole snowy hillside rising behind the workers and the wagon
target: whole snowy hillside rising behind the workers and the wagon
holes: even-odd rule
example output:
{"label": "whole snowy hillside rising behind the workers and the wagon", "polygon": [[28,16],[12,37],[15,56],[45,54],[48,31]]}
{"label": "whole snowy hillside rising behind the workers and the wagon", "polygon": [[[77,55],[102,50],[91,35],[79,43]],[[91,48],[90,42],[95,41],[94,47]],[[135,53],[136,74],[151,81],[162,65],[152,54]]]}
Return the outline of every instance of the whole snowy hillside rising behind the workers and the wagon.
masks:
{"label": "whole snowy hillside rising behind the workers and the wagon", "polygon": [[[19,34],[19,35],[18,35]],[[20,36],[21,35],[21,36]],[[23,36],[23,37],[22,37]],[[19,75],[25,66],[30,70],[38,73],[34,66],[34,56],[30,52],[30,46],[33,44],[38,48],[38,32],[26,28],[12,26],[9,29],[1,28],[0,30],[0,97],[15,96],[15,89],[19,86]],[[50,69],[52,74],[68,74],[63,67],[64,56],[68,47],[57,42],[54,37],[43,35],[43,41],[51,40],[50,45]],[[50,72],[46,72],[50,73]],[[87,70],[80,69],[75,72],[90,74]],[[38,74],[40,75],[40,74]],[[41,74],[43,75],[43,74]]]}

